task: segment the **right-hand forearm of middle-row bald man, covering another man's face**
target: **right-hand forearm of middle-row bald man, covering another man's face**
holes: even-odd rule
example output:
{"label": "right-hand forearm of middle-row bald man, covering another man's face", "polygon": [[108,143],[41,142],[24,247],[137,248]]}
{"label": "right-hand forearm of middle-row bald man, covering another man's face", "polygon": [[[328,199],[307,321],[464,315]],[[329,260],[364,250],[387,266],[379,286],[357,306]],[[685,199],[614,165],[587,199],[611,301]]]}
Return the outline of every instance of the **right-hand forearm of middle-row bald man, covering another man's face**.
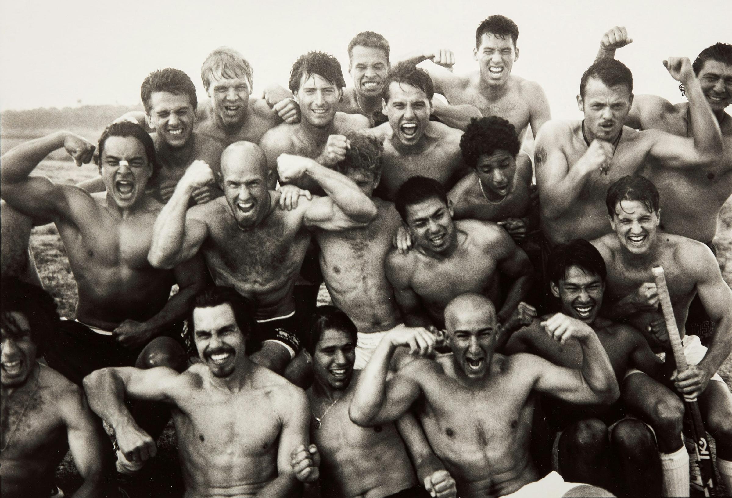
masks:
{"label": "right-hand forearm of middle-row bald man, covering another man's face", "polygon": [[346,175],[326,168],[314,160],[308,161],[305,174],[318,182],[326,196],[352,220],[370,222],[376,218],[376,204]]}

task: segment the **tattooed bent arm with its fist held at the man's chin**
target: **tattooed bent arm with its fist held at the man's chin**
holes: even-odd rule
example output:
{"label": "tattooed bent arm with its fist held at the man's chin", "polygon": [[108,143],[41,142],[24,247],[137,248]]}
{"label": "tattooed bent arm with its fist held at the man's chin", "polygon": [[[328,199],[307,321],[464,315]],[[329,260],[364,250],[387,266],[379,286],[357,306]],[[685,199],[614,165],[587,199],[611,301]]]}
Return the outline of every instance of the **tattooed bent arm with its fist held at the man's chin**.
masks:
{"label": "tattooed bent arm with its fist held at the man's chin", "polygon": [[600,166],[613,157],[612,144],[594,140],[577,163],[567,163],[561,149],[561,143],[568,138],[568,133],[564,133],[567,126],[561,122],[547,123],[537,136],[534,149],[539,206],[550,220],[561,218],[575,207],[589,175],[599,174]]}

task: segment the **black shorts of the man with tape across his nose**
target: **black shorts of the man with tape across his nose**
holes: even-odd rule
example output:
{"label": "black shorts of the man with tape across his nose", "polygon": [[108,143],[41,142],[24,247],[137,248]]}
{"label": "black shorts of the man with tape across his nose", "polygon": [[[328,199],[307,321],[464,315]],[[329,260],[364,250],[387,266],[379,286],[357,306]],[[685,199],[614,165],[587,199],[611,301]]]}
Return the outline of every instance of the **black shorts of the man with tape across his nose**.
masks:
{"label": "black shorts of the man with tape across his nose", "polygon": [[[185,349],[179,327],[171,327],[163,335],[175,339]],[[74,384],[81,385],[84,377],[100,368],[135,366],[145,346],[128,349],[113,335],[94,332],[74,320],[61,320],[58,332],[52,335],[51,343],[45,347],[43,358],[48,366]]]}

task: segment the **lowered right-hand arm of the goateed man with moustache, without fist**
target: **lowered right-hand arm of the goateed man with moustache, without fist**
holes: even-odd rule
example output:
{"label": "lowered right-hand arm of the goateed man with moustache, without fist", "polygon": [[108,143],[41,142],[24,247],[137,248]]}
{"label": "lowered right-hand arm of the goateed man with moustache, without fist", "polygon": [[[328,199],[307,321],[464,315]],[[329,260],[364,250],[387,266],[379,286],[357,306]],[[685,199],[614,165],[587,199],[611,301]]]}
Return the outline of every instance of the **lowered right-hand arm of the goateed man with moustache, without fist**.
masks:
{"label": "lowered right-hand arm of the goateed man with moustache, without fist", "polygon": [[[291,455],[299,447],[308,447],[310,404],[305,392],[287,384],[277,398],[277,412],[282,420],[280,442],[277,446],[277,477],[261,488],[255,498],[302,496],[302,485],[291,466]],[[298,494],[299,492],[299,494]]]}

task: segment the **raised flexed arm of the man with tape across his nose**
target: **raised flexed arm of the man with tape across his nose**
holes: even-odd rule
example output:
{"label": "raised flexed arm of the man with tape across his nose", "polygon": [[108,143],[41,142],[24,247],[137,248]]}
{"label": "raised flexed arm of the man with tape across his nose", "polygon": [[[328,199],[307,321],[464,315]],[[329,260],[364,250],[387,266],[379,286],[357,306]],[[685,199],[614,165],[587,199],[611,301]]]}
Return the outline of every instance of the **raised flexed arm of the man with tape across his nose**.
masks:
{"label": "raised flexed arm of the man with tape across his nose", "polygon": [[89,163],[94,145],[75,133],[59,131],[13,147],[0,157],[0,193],[16,211],[31,218],[55,219],[69,210],[68,195],[81,190],[56,185],[45,176],[29,176],[51,152],[64,147],[76,166]]}

